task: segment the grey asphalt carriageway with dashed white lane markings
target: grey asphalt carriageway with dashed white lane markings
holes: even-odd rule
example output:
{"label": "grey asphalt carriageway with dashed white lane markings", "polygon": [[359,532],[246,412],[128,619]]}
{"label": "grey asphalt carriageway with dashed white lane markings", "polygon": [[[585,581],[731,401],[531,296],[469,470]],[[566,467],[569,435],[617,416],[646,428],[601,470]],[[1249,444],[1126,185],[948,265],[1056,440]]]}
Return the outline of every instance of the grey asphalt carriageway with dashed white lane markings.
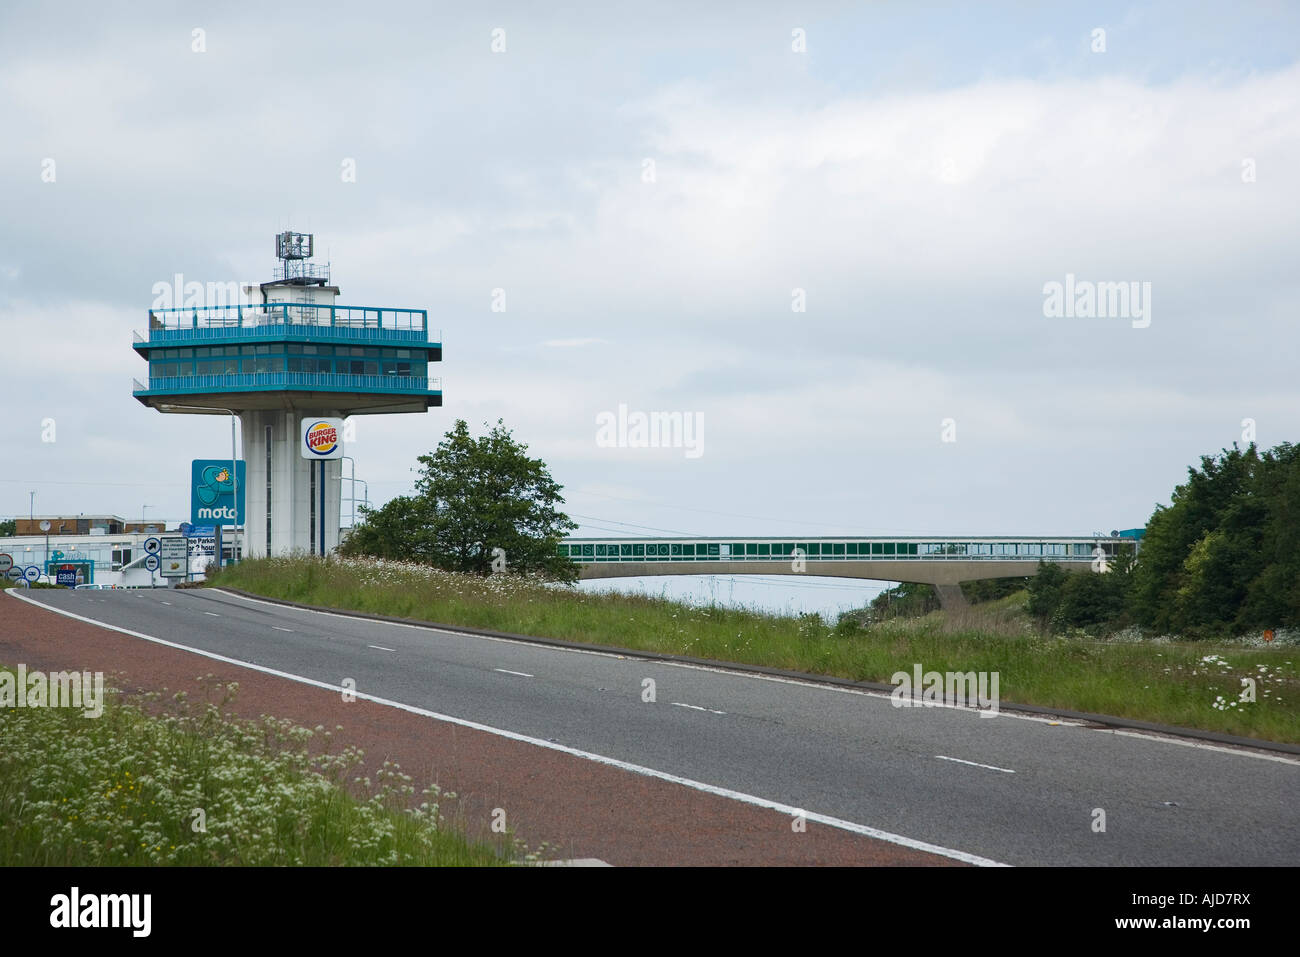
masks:
{"label": "grey asphalt carriageway with dashed white lane markings", "polygon": [[[1010,865],[1295,865],[1300,761],[396,625],[213,590],[32,592],[96,622]],[[922,663],[924,664],[924,663]],[[644,701],[653,679],[653,702]],[[1105,811],[1096,832],[1095,809]]]}

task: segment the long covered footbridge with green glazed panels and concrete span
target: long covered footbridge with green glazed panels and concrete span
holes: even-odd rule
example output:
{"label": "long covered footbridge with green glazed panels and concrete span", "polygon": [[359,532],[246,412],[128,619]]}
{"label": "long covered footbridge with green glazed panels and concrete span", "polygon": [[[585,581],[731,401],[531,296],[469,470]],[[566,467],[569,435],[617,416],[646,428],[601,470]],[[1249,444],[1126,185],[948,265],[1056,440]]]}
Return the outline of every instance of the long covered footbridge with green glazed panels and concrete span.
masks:
{"label": "long covered footbridge with green glazed panels and concrete span", "polygon": [[1018,579],[1053,562],[1102,571],[1138,542],[1126,536],[993,538],[567,538],[559,553],[578,579],[647,575],[803,575],[935,585],[944,607],[965,603],[961,583]]}

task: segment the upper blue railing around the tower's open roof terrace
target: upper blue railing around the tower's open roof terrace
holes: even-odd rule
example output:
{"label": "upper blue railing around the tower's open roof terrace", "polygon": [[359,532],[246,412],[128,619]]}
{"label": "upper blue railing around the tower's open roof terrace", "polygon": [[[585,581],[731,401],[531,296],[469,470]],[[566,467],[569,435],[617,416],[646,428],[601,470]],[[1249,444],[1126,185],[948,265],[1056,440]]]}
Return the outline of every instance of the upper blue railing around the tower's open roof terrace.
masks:
{"label": "upper blue railing around the tower's open roof terrace", "polygon": [[[265,328],[274,332],[261,332]],[[286,328],[335,330],[338,334],[370,332],[374,337],[411,338],[428,334],[425,309],[324,303],[257,303],[150,309],[148,342],[178,338],[283,335]],[[143,337],[138,337],[142,341]]]}

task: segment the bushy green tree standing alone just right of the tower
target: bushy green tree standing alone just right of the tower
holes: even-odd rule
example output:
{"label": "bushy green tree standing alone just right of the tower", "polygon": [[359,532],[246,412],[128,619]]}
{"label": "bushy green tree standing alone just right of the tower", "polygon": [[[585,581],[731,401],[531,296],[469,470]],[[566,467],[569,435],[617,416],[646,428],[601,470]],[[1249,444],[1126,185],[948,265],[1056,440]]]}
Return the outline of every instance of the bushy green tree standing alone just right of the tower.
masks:
{"label": "bushy green tree standing alone just right of the tower", "polygon": [[437,450],[420,456],[416,494],[365,512],[346,553],[573,581],[577,567],[556,546],[577,523],[559,511],[563,486],[526,451],[500,420],[478,438],[458,420]]}

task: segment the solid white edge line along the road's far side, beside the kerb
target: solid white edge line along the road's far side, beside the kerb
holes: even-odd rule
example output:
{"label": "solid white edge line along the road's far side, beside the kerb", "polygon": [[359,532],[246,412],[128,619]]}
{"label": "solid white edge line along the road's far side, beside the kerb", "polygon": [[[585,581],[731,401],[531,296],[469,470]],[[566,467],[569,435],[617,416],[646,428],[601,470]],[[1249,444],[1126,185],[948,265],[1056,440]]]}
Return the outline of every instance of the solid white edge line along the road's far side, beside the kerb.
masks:
{"label": "solid white edge line along the road's far side, beside the kerb", "polygon": [[[263,598],[250,598],[248,596],[235,594],[234,592],[226,592],[225,589],[221,589],[221,588],[213,588],[211,590],[213,593],[216,593],[216,594],[224,594],[228,598],[238,598],[239,601],[252,602],[254,605],[269,605],[272,607],[280,609],[281,611],[283,611],[285,609],[292,609],[294,611],[304,611],[304,612],[309,612],[312,615],[326,615],[328,618],[344,618],[344,619],[348,619],[351,622],[370,622],[373,624],[390,624],[390,625],[394,625],[395,628],[415,628],[415,629],[421,631],[421,632],[434,632],[436,635],[451,635],[451,636],[458,637],[458,638],[480,638],[481,641],[500,641],[500,642],[507,644],[507,645],[523,645],[525,648],[543,648],[543,649],[550,649],[551,651],[567,651],[569,654],[590,654],[590,655],[595,655],[597,658],[612,658],[612,659],[618,659],[618,661],[628,661],[627,655],[618,654],[615,651],[601,651],[601,650],[589,649],[589,648],[563,648],[560,645],[542,645],[542,644],[536,642],[536,641],[520,641],[519,638],[502,638],[502,637],[498,637],[495,635],[474,635],[473,632],[458,632],[458,631],[455,631],[452,628],[439,628],[438,625],[432,624],[432,623],[430,624],[413,624],[411,622],[384,622],[382,619],[358,618],[356,615],[342,615],[342,614],[339,614],[337,611],[317,611],[316,609],[302,609],[302,607],[298,607],[298,606],[294,606],[294,605],[282,605],[280,602],[268,602],[268,601],[265,601]],[[14,598],[17,598],[17,597],[18,596],[16,594]],[[46,607],[51,607],[51,606],[42,605],[40,607],[46,609]],[[53,610],[53,609],[51,609],[51,610]],[[100,624],[100,623],[96,622],[95,624]],[[890,692],[875,692],[875,690],[870,690],[867,688],[845,688],[842,685],[823,684],[823,683],[815,681],[812,679],[783,677],[780,675],[760,675],[760,674],[754,672],[754,671],[744,671],[744,670],[740,670],[740,668],[715,668],[715,667],[710,667],[708,664],[693,664],[692,662],[667,662],[667,661],[658,659],[658,658],[634,658],[632,661],[636,661],[638,663],[644,662],[646,664],[658,664],[658,666],[662,666],[662,667],[666,667],[666,668],[685,668],[688,671],[707,671],[707,672],[714,674],[714,675],[724,675],[724,676],[728,676],[728,677],[744,677],[744,679],[749,679],[749,680],[753,680],[753,681],[775,681],[776,684],[793,684],[793,685],[797,685],[800,688],[811,688],[814,690],[820,690],[820,692],[835,692],[837,694],[858,694],[858,696],[864,697],[864,698],[884,698],[884,700],[888,701],[888,700],[890,700],[893,697],[893,694]],[[950,703],[946,703],[946,702],[942,702],[942,701],[933,702],[931,706],[932,707],[940,707],[940,709],[950,710],[950,711],[970,711],[970,713],[972,713],[975,715],[988,714],[987,711],[984,711],[982,709],[978,709],[978,707],[966,707],[965,705],[950,705]],[[1067,728],[1083,728],[1084,727],[1084,724],[1083,724],[1082,720],[1078,720],[1078,719],[1074,719],[1074,718],[1053,718],[1053,716],[1044,716],[1044,715],[1036,715],[1036,714],[1023,714],[1023,713],[1017,713],[1017,711],[998,711],[997,716],[998,718],[1011,718],[1011,719],[1018,720],[1018,722],[1036,722],[1039,724],[1060,724],[1060,726],[1065,726]],[[1265,761],[1279,761],[1283,765],[1295,765],[1296,767],[1300,767],[1300,759],[1296,759],[1296,758],[1284,758],[1284,757],[1280,757],[1278,754],[1261,754],[1258,752],[1248,750],[1244,746],[1243,748],[1216,746],[1216,745],[1209,745],[1209,744],[1200,744],[1197,741],[1183,740],[1183,739],[1173,737],[1173,736],[1169,736],[1169,735],[1138,733],[1138,732],[1134,732],[1134,731],[1124,731],[1122,728],[1089,728],[1089,729],[1091,731],[1108,731],[1110,733],[1124,735],[1127,737],[1140,737],[1144,741],[1154,741],[1154,742],[1164,742],[1164,744],[1179,744],[1179,745],[1183,745],[1186,748],[1205,748],[1206,750],[1221,750],[1221,752],[1223,752],[1226,754],[1236,754],[1236,755],[1244,757],[1244,758],[1264,758]]]}

